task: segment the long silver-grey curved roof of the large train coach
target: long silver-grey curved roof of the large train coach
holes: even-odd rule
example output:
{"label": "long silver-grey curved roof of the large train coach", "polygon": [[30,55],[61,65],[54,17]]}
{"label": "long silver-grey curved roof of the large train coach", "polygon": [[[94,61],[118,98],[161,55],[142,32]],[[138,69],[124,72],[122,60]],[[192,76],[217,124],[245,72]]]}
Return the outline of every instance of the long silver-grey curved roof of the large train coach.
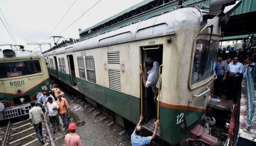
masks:
{"label": "long silver-grey curved roof of the large train coach", "polygon": [[150,19],[140,20],[125,27],[116,28],[105,34],[74,43],[60,49],[46,51],[44,56],[93,49],[140,39],[172,35],[175,29],[186,25],[200,25],[202,12],[198,8],[180,8]]}

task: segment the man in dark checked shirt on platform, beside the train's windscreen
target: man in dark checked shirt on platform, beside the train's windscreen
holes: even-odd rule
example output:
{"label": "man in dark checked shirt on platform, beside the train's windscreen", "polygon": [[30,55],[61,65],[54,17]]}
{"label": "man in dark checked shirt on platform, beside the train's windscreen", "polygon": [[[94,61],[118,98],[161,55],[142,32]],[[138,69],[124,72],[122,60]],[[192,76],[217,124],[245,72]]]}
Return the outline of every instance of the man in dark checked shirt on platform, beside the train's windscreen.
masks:
{"label": "man in dark checked shirt on platform, beside the train's windscreen", "polygon": [[218,57],[218,62],[217,64],[219,65],[219,75],[217,76],[217,80],[215,80],[215,95],[219,98],[221,98],[222,94],[222,81],[226,80],[227,76],[227,62],[223,61],[223,56],[222,54],[219,55]]}

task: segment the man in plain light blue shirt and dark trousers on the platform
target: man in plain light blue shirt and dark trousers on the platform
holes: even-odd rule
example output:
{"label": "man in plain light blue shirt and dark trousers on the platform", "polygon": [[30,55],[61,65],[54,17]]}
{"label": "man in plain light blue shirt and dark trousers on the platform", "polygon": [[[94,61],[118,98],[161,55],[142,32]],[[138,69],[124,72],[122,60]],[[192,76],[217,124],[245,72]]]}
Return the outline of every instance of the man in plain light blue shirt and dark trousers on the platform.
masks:
{"label": "man in plain light blue shirt and dark trousers on the platform", "polygon": [[238,90],[241,86],[240,75],[244,73],[243,65],[238,61],[238,57],[234,57],[233,62],[228,65],[229,84],[227,87],[227,99],[233,98],[234,103],[237,103]]}

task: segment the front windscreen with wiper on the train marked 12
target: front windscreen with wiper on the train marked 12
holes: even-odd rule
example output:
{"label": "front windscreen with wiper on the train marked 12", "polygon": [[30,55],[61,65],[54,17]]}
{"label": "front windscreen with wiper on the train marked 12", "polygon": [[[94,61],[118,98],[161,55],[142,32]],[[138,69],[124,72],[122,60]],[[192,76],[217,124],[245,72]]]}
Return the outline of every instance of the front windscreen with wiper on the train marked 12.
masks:
{"label": "front windscreen with wiper on the train marked 12", "polygon": [[209,40],[197,39],[192,68],[191,84],[203,81],[214,74],[217,60],[219,41],[212,40],[208,49]]}

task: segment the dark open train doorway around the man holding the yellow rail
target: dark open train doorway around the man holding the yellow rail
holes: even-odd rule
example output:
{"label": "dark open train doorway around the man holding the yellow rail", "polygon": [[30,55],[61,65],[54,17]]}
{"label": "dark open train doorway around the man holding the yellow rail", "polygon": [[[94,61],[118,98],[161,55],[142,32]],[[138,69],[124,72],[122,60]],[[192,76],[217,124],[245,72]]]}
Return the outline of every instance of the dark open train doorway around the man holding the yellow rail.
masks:
{"label": "dark open train doorway around the man holding the yellow rail", "polygon": [[[158,62],[159,66],[162,65],[163,45],[143,46],[141,47],[141,51],[142,51],[143,64],[147,58],[151,57],[154,61]],[[144,71],[144,74],[148,76],[147,72],[149,70],[147,70],[144,66],[143,66],[143,71]],[[149,127],[151,126],[154,127],[153,120],[157,118],[157,101],[154,101],[154,96],[155,96],[154,92],[155,91],[153,91],[153,88],[151,87],[143,88],[143,107],[144,107],[143,116],[144,116],[145,123],[148,123]]]}

